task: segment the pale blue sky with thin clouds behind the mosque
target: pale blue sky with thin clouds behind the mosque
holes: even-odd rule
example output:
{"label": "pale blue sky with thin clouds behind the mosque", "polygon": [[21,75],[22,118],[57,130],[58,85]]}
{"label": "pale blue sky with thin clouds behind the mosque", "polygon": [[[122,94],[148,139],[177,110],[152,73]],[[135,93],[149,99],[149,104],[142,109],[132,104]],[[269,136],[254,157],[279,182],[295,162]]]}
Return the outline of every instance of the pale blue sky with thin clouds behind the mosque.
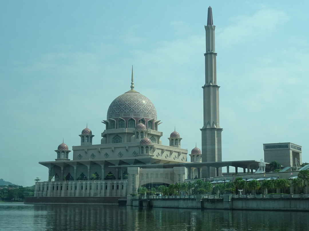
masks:
{"label": "pale blue sky with thin clouds behind the mosque", "polygon": [[[110,103],[135,90],[155,105],[162,144],[201,148],[205,28],[212,7],[222,161],[260,160],[292,142],[309,162],[307,1],[0,1],[0,178],[48,180],[57,146],[100,144]],[[70,153],[69,158],[72,158]],[[230,169],[231,171],[231,169]]]}

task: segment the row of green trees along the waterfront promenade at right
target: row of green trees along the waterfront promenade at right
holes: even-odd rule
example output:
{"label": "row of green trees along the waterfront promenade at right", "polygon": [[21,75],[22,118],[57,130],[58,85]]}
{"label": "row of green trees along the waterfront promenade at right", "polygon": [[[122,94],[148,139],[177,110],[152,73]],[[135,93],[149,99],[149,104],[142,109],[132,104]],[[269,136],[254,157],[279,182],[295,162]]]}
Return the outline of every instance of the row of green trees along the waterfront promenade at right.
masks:
{"label": "row of green trees along the waterfront promenade at right", "polygon": [[[292,179],[292,186],[298,189],[298,193],[306,193],[306,183],[309,180],[309,171],[301,170],[298,178]],[[247,181],[243,178],[236,178],[232,182],[216,183],[212,185],[209,181],[197,179],[193,183],[175,183],[169,186],[160,185],[157,188],[147,190],[146,187],[138,188],[138,194],[154,195],[160,192],[162,195],[195,195],[195,194],[223,194],[238,193],[237,190],[244,190],[244,194],[255,194],[260,188],[267,189],[267,193],[274,193],[279,189],[281,193],[285,193],[290,187],[290,181],[287,179],[269,179],[263,180],[261,183],[257,180]]]}

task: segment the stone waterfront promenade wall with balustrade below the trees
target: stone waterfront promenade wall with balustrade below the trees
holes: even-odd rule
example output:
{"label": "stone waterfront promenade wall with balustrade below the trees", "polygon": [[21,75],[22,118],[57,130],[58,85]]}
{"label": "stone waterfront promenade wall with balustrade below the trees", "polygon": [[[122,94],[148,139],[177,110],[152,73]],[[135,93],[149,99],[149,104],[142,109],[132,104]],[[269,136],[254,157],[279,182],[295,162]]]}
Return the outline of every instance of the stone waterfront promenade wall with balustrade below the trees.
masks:
{"label": "stone waterfront promenade wall with balustrade below the trees", "polygon": [[157,208],[309,211],[309,194],[127,197],[127,205]]}

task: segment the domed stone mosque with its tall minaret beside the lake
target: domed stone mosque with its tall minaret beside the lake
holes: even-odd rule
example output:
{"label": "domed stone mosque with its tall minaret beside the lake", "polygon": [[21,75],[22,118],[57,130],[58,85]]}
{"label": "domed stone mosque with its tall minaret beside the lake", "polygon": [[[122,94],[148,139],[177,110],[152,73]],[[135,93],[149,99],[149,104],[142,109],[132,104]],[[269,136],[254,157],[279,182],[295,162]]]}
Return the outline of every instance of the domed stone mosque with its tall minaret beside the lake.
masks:
{"label": "domed stone mosque with its tall minaret beside the lake", "polygon": [[[169,145],[162,145],[161,121],[150,99],[134,89],[132,67],[130,90],[112,101],[106,120],[102,121],[105,130],[101,133],[101,143],[92,143],[94,135],[86,126],[79,135],[80,145],[72,148],[72,159],[69,159],[69,147],[64,142],[60,144],[55,150],[55,161],[39,162],[48,167],[49,181],[36,183],[35,196],[125,197],[136,193],[141,186],[152,188],[183,183],[185,179],[218,177],[222,175],[222,167],[227,168],[227,175],[229,166],[235,167],[235,174],[238,168],[242,168],[243,173],[258,171],[260,162],[255,160],[222,162],[211,7],[205,31],[202,146],[191,150],[190,162],[187,161],[188,149],[181,147],[182,138],[176,130],[168,138]],[[265,166],[263,170],[265,172]]]}

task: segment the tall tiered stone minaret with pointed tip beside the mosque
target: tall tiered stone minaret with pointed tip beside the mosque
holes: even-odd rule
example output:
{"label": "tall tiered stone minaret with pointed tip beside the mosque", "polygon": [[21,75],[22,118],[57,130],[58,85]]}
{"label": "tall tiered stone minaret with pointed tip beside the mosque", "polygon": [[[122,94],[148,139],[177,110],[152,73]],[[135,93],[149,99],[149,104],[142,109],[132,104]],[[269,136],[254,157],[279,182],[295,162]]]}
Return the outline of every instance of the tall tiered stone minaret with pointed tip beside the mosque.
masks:
{"label": "tall tiered stone minaret with pointed tip beside the mosque", "polygon": [[[202,132],[202,162],[222,161],[221,132],[219,125],[219,86],[217,85],[212,9],[208,7],[205,56],[205,85],[203,88],[204,126]],[[210,167],[202,170],[203,177],[221,176],[222,169]]]}

